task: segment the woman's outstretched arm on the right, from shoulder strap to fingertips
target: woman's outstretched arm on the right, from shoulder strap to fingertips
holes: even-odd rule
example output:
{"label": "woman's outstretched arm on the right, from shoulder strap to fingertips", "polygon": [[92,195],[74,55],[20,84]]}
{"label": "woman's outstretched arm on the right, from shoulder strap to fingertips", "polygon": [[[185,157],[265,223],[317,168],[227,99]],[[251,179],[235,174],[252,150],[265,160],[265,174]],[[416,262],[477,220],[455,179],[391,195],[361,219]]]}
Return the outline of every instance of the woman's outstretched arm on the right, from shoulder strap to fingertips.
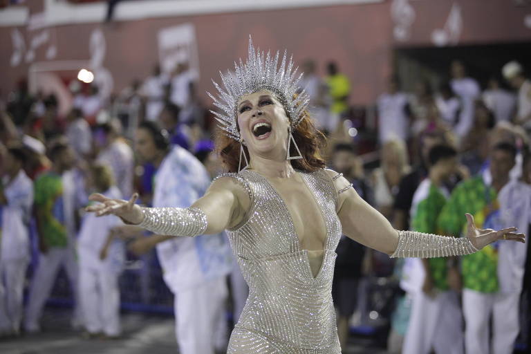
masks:
{"label": "woman's outstretched arm on the right, from shoulder strap to fingertips", "polygon": [[422,232],[398,231],[382,214],[367,204],[353,189],[346,178],[336,178],[335,171],[327,170],[334,179],[338,195],[337,215],[342,223],[343,234],[391,257],[447,257],[469,254],[481,250],[499,239],[524,242],[523,234],[516,234],[516,227],[495,231],[478,229],[474,218],[467,215],[466,238],[425,234]]}

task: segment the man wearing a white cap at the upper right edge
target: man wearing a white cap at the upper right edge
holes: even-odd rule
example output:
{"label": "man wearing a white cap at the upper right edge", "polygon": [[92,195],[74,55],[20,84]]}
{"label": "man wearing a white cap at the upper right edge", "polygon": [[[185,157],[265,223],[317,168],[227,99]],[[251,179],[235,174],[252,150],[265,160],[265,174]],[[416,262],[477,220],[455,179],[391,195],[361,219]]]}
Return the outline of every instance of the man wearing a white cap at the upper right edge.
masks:
{"label": "man wearing a white cap at the upper right edge", "polygon": [[505,80],[518,90],[516,123],[531,128],[531,82],[525,78],[519,62],[508,62],[501,71]]}

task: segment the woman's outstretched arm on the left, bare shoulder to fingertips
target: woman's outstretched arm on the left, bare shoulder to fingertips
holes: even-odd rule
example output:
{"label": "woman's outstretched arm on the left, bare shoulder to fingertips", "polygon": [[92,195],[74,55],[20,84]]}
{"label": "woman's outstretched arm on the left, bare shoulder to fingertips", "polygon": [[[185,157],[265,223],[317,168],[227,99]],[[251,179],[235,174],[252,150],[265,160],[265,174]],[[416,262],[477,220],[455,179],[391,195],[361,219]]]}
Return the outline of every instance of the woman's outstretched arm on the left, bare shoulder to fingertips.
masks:
{"label": "woman's outstretched arm on the left, bare shoulder to fingertips", "polygon": [[100,202],[86,208],[97,216],[114,214],[126,223],[138,225],[156,234],[198,236],[218,234],[238,225],[250,205],[245,189],[233,178],[223,177],[210,185],[205,195],[190,207],[140,207],[138,194],[129,201],[92,194],[91,201]]}

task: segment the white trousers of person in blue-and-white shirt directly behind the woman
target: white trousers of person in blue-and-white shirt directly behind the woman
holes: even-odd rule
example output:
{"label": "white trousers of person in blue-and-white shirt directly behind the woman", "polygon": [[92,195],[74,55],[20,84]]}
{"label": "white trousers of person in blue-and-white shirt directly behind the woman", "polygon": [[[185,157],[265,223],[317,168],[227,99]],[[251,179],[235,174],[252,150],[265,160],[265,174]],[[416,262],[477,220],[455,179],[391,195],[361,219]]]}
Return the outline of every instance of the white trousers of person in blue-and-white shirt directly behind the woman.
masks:
{"label": "white trousers of person in blue-and-white shirt directly behind the woman", "polygon": [[175,294],[179,353],[214,354],[219,324],[225,315],[225,277]]}

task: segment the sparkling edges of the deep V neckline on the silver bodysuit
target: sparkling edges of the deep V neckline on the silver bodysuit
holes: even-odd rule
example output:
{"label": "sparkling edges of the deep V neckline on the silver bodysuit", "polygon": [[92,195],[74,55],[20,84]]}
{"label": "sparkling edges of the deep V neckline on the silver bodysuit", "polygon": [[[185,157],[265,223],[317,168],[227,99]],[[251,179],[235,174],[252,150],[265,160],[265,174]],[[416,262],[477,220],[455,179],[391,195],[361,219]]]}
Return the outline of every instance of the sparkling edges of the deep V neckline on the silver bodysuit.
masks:
{"label": "sparkling edges of the deep V neckline on the silver bodysuit", "polygon": [[274,185],[272,183],[270,183],[268,178],[265,178],[264,176],[259,174],[257,171],[254,171],[252,169],[248,169],[247,171],[252,172],[253,174],[259,176],[259,178],[261,178],[272,189],[274,194],[276,194],[276,196],[279,198],[280,203],[282,204],[284,209],[286,209],[286,217],[288,218],[288,222],[289,222],[289,225],[291,227],[290,235],[291,235],[292,242],[295,244],[295,248],[297,249],[298,252],[304,252],[304,254],[306,254],[306,265],[307,265],[307,268],[308,268],[308,274],[310,275],[310,277],[313,280],[319,278],[319,276],[321,275],[322,270],[324,268],[323,265],[324,265],[324,262],[325,262],[326,250],[328,248],[328,242],[330,240],[330,232],[328,230],[329,227],[328,227],[328,225],[326,223],[326,218],[325,218],[325,214],[324,214],[323,208],[319,204],[319,201],[317,201],[317,196],[315,195],[315,192],[313,192],[313,190],[310,188],[310,185],[308,185],[308,181],[306,180],[306,176],[303,175],[303,172],[295,170],[295,173],[299,174],[299,176],[301,176],[301,178],[302,178],[302,180],[304,182],[304,185],[306,186],[306,189],[308,189],[308,191],[310,192],[310,195],[312,196],[315,205],[317,205],[317,209],[319,209],[319,213],[321,214],[321,218],[322,218],[323,225],[324,225],[324,232],[325,232],[325,235],[326,235],[325,236],[325,240],[324,240],[324,247],[321,250],[321,252],[323,252],[323,259],[322,259],[322,262],[321,262],[321,266],[319,267],[319,272],[317,272],[317,275],[315,277],[313,276],[313,272],[312,272],[312,270],[310,268],[310,260],[308,259],[308,250],[302,248],[302,246],[301,246],[301,239],[299,239],[299,234],[297,234],[297,230],[295,229],[295,223],[293,222],[292,214],[290,212],[290,209],[288,208],[288,204],[286,203],[286,201],[284,200],[284,198],[282,197],[280,192],[277,190],[277,188],[275,188]]}

